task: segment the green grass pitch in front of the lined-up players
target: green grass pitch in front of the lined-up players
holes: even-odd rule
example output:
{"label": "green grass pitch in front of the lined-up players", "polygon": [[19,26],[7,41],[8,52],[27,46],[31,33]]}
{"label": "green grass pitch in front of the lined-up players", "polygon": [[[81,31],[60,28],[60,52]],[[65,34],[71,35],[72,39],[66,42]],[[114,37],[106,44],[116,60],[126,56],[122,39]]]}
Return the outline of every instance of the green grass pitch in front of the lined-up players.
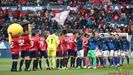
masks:
{"label": "green grass pitch in front of the lined-up players", "polygon": [[[45,64],[43,64],[45,66]],[[118,72],[115,67],[103,69],[68,69],[68,70],[38,70],[29,72],[10,72],[11,59],[0,58],[0,75],[109,75],[109,72]],[[130,65],[124,65],[121,72],[128,71],[128,75],[133,75],[133,59],[130,59]],[[111,74],[115,75],[115,74]],[[118,74],[117,74],[118,75]],[[124,74],[119,74],[124,75]]]}

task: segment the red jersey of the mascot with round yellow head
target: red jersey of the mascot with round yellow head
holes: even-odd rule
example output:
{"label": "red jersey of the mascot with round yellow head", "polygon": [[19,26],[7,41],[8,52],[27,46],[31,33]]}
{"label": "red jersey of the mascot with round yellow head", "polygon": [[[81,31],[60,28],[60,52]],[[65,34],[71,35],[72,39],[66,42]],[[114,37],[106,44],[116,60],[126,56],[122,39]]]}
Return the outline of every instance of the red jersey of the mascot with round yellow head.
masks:
{"label": "red jersey of the mascot with round yellow head", "polygon": [[19,38],[12,38],[10,50],[12,54],[19,54],[20,52],[20,41]]}

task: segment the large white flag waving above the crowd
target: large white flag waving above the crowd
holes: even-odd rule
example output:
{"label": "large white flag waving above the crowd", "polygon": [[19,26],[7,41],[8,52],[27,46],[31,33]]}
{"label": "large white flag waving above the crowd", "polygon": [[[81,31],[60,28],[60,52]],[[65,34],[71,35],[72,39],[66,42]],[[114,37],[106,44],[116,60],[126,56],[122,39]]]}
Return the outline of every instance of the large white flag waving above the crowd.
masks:
{"label": "large white flag waving above the crowd", "polygon": [[58,24],[60,25],[64,25],[64,22],[68,16],[70,11],[63,11],[63,12],[60,12],[60,13],[57,13],[55,15],[55,17],[53,18],[53,20],[56,20],[58,22]]}

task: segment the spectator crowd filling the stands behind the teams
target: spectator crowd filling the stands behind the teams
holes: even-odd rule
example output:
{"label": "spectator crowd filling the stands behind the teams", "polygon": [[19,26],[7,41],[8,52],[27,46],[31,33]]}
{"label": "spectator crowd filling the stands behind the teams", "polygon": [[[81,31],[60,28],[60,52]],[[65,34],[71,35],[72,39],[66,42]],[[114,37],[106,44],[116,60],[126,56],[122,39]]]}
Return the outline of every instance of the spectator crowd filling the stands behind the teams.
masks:
{"label": "spectator crowd filling the stands behind the teams", "polygon": [[[86,33],[119,32],[133,34],[133,1],[132,0],[0,0],[0,40],[7,37],[9,24],[28,20],[36,29],[60,32],[62,29],[83,30]],[[21,11],[20,6],[70,6],[71,10],[64,25],[59,25],[52,18],[63,10],[43,9],[37,11]],[[120,9],[111,5],[119,5]],[[128,5],[131,5],[129,8]],[[4,6],[16,6],[2,9]]]}

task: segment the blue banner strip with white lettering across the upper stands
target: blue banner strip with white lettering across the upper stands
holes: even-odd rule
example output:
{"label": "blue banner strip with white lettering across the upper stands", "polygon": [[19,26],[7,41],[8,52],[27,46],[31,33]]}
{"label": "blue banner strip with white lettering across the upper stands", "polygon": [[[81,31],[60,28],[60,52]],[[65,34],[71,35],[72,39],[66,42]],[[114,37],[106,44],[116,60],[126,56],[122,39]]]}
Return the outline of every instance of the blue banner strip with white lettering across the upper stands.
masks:
{"label": "blue banner strip with white lettering across the upper stands", "polygon": [[[92,6],[91,4],[88,5],[84,5],[83,8],[85,9],[89,9],[89,8],[93,8],[93,7],[97,7],[97,8],[104,8],[106,5],[105,4],[101,4],[100,6]],[[132,8],[132,5],[127,5],[127,8]],[[3,6],[2,9],[11,9],[11,10],[16,10],[18,7],[16,6]],[[42,10],[47,8],[48,10],[65,10],[65,9],[69,9],[69,10],[77,10],[77,7],[71,7],[68,5],[47,5],[47,6],[19,6],[20,11],[37,11],[37,10]],[[111,5],[111,8],[113,8],[114,10],[121,10],[122,7],[119,4],[113,4]]]}

